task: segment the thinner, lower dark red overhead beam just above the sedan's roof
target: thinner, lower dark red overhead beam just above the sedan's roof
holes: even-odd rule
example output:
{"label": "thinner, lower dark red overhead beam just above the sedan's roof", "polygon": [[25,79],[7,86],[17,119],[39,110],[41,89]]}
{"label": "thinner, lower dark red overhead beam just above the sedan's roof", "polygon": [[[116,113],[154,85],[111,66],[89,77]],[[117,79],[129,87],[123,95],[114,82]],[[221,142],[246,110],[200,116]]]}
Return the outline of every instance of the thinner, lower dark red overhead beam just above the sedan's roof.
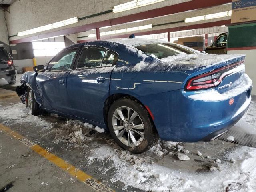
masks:
{"label": "thinner, lower dark red overhead beam just above the sedan's roof", "polygon": [[[152,35],[152,34],[160,34],[160,33],[169,33],[170,34],[170,32],[178,32],[178,31],[190,30],[190,29],[215,27],[215,26],[221,26],[221,25],[228,25],[230,23],[231,23],[231,20],[229,19],[229,20],[215,21],[215,22],[209,22],[209,23],[201,23],[201,24],[194,24],[194,25],[188,25],[188,26],[180,26],[180,27],[174,27],[174,28],[138,32],[138,33],[134,33],[134,35],[142,36],[142,35]],[[115,36],[102,36],[101,39],[103,40],[103,39],[112,39],[112,38],[127,38],[128,36],[129,36],[129,34],[115,35]],[[88,42],[88,41],[93,41],[93,40],[95,40],[95,39],[80,40],[80,41],[78,41],[78,43]]]}

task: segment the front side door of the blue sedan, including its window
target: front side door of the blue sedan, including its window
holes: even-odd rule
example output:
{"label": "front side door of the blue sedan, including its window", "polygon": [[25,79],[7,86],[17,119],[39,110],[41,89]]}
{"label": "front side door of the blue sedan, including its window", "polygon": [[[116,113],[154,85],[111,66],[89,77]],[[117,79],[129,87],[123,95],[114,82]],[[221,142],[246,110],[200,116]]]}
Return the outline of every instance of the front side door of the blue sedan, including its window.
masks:
{"label": "front side door of the blue sedan, including its window", "polygon": [[75,47],[62,50],[49,62],[47,70],[36,77],[43,108],[67,112],[66,77],[74,66],[78,49]]}

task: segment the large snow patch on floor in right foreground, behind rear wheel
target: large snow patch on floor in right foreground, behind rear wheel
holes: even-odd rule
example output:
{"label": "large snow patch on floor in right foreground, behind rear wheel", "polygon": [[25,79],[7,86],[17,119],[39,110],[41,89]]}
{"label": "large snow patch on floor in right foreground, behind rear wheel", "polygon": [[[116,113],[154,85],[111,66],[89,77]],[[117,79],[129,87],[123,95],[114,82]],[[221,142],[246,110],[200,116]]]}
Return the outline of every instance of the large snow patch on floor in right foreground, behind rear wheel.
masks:
{"label": "large snow patch on floor in right foreground, behind rear wheel", "polygon": [[[128,154],[122,152],[122,157],[136,156]],[[256,190],[256,149],[253,148],[238,148],[226,157],[223,164],[219,159],[215,160],[218,164],[210,167],[211,172],[203,174],[173,170],[157,162],[152,164],[138,160],[139,163],[136,163],[135,160],[130,164],[119,155],[108,146],[101,146],[91,154],[96,162],[107,160],[114,163],[116,172],[112,182],[123,182],[125,186],[122,190],[126,190],[128,186],[145,191],[173,192],[224,192],[227,188],[231,191],[234,186],[241,192]],[[230,163],[231,158],[235,159],[235,163]]]}

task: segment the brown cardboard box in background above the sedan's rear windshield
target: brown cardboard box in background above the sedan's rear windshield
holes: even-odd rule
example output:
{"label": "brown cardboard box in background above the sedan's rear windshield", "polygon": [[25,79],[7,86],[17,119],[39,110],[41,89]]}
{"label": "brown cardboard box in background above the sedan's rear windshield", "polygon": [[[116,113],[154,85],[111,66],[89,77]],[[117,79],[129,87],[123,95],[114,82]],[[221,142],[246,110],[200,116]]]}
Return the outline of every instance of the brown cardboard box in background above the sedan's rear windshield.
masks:
{"label": "brown cardboard box in background above the sedan's rear windshield", "polygon": [[178,41],[181,41],[185,46],[196,50],[202,50],[204,48],[204,37],[184,37],[178,38]]}

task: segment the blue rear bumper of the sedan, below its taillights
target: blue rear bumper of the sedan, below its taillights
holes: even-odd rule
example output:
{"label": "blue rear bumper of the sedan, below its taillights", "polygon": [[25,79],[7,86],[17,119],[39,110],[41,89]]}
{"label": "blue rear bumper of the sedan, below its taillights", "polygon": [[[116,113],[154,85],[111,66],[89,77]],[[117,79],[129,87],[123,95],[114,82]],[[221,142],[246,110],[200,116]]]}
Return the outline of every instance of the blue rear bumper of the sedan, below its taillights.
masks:
{"label": "blue rear bumper of the sedan, below its taillights", "polygon": [[[207,97],[196,100],[191,98],[191,95],[206,91],[184,90],[165,92],[139,100],[150,108],[162,140],[203,142],[210,141],[231,128],[248,109],[252,82],[247,87],[241,83],[233,89],[239,92],[230,97],[221,97],[220,100],[218,98],[211,100]],[[211,93],[212,90],[208,91]],[[234,99],[233,104],[230,104],[230,99]]]}

